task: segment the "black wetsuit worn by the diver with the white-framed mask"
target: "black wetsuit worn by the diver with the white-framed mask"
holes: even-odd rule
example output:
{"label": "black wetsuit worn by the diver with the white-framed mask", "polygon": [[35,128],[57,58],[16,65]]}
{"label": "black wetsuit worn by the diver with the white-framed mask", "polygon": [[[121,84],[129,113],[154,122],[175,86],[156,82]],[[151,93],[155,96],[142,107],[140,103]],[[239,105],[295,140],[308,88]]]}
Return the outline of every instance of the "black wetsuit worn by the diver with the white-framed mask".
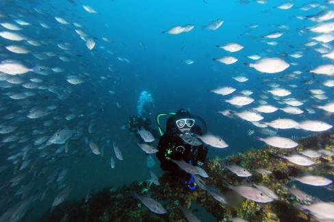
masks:
{"label": "black wetsuit worn by the diver with the white-framed mask", "polygon": [[[175,125],[175,120],[175,116],[168,118],[166,132],[162,135],[159,141],[157,158],[159,158],[160,166],[164,171],[171,171],[176,174],[179,174],[181,169],[179,169],[179,166],[175,163],[170,161],[171,159],[177,161],[183,160],[192,165],[203,167],[207,156],[207,145],[190,145],[185,143],[185,141],[179,137],[182,133]],[[192,126],[190,133],[196,135],[203,134],[201,128],[197,124]]]}

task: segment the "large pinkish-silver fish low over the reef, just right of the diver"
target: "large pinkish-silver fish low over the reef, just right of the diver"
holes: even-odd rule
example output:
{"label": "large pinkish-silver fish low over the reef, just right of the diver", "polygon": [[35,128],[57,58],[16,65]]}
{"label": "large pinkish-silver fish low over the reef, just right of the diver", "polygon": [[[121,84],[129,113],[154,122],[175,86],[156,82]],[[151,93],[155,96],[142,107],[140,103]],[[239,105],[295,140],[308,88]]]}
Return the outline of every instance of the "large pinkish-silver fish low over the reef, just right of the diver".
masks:
{"label": "large pinkish-silver fish low over the reef, just right of the diver", "polygon": [[241,186],[232,186],[228,185],[229,189],[239,193],[242,197],[246,199],[251,199],[254,202],[258,203],[270,203],[273,202],[274,199],[268,197],[264,192],[259,191],[258,189],[253,188],[252,186],[248,185],[241,185]]}

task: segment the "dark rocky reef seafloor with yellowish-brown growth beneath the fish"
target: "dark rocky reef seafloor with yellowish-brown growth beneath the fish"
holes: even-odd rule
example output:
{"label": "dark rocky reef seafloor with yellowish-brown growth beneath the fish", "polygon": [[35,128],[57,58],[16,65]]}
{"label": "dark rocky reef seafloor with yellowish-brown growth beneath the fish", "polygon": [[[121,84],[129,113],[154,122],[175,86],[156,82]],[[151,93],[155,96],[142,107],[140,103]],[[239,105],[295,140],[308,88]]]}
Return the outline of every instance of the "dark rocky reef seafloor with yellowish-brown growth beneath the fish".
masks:
{"label": "dark rocky reef seafloor with yellowish-brown growth beneath the fish", "polygon": [[[297,150],[326,149],[334,152],[333,136],[332,131],[300,139]],[[290,182],[289,176],[300,176],[307,172],[312,175],[334,175],[334,157],[318,158],[317,164],[310,167],[300,167],[277,157],[278,153],[291,152],[294,150],[265,147],[261,150],[253,149],[227,156],[224,159],[209,159],[205,166],[209,178],[203,180],[206,184],[221,191],[229,201],[229,205],[220,204],[209,193],[199,188],[190,191],[169,174],[164,174],[159,178],[161,184],[159,186],[154,184],[149,186],[149,182],[133,182],[120,189],[107,187],[99,193],[94,193],[86,203],[85,198],[65,202],[52,212],[44,214],[42,221],[186,221],[183,213],[177,207],[177,200],[186,208],[190,208],[191,204],[196,202],[197,206],[205,208],[217,221],[229,221],[233,217],[256,222],[313,221],[307,214],[294,207],[294,204],[298,203],[296,197],[290,194],[284,185]],[[235,163],[249,170],[264,168],[272,171],[272,174],[269,175],[261,175],[252,171],[253,176],[246,182],[249,184],[255,182],[269,187],[279,196],[279,199],[268,204],[258,204],[240,197],[228,189],[226,184],[236,186],[244,183],[245,179],[231,174],[230,171],[221,167],[221,163]],[[138,199],[133,198],[135,192],[138,194],[150,193],[153,199],[164,205],[167,213],[151,212]]]}

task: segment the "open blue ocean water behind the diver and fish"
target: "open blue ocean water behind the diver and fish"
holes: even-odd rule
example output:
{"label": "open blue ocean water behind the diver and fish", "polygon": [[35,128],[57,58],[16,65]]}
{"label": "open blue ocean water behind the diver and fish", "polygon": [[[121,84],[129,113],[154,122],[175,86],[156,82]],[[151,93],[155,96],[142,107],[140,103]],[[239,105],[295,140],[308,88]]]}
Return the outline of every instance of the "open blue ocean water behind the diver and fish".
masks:
{"label": "open blue ocean water behind the diver and fish", "polygon": [[[277,8],[288,2],[292,3],[272,0],[264,3],[0,1],[1,24],[10,23],[19,28],[0,26],[1,63],[14,60],[27,68],[35,68],[34,72],[23,74],[6,73],[0,68],[0,125],[1,129],[14,127],[10,133],[0,135],[0,166],[3,166],[0,214],[12,215],[14,209],[26,201],[32,207],[25,208],[27,212],[21,212],[22,217],[34,221],[51,209],[55,197],[68,186],[73,189],[66,200],[79,199],[89,191],[97,192],[106,186],[149,180],[148,165],[153,163],[146,163],[147,155],[136,144],[138,138],[127,129],[129,116],[138,114],[138,99],[144,91],[153,98],[145,107],[149,110],[147,117],[152,122],[151,127],[156,131],[155,115],[184,108],[201,116],[208,132],[227,142],[228,148],[209,148],[207,158],[223,158],[261,148],[265,143],[254,137],[269,137],[270,133],[292,139],[315,133],[296,128],[268,128],[271,131],[264,133],[251,122],[226,117],[218,111],[252,111],[261,101],[283,108],[287,106],[284,99],[296,98],[303,102],[300,106],[303,113],[292,115],[281,110],[260,113],[264,117],[260,122],[290,118],[296,122],[320,120],[333,124],[331,113],[315,107],[333,100],[333,88],[323,84],[333,80],[333,70],[327,75],[309,72],[320,65],[333,64],[333,60],[320,57],[333,51],[333,43],[316,42],[312,38],[322,33],[309,30],[318,24],[331,23],[332,27],[325,33],[332,34],[333,19],[317,22],[306,17],[333,10],[333,3],[318,1],[313,3],[314,7],[303,10],[303,6],[312,1],[298,1],[289,10]],[[89,5],[97,13],[89,13],[83,5]],[[55,17],[62,18],[63,22]],[[207,25],[218,18],[224,21],[221,27],[214,31],[207,29]],[[257,27],[250,27],[254,24]],[[194,25],[194,29],[177,35],[163,33],[175,25]],[[10,40],[5,31],[17,33],[24,40]],[[264,37],[274,31],[283,36]],[[88,39],[95,42],[92,50],[86,46]],[[305,46],[311,41],[317,45]],[[244,48],[231,53],[216,47],[231,42]],[[29,53],[14,53],[6,48],[9,45],[24,47]],[[317,48],[320,50],[316,51]],[[302,57],[292,57],[294,53]],[[275,74],[259,72],[244,65],[255,62],[248,58],[250,55],[279,57],[290,67]],[[238,60],[231,65],[213,61],[223,56]],[[194,63],[186,64],[187,59]],[[301,74],[292,73],[295,71]],[[237,76],[246,77],[248,81],[237,82],[233,79]],[[68,81],[74,77],[82,83]],[[289,89],[291,94],[273,96],[268,92],[272,89],[270,83]],[[222,86],[234,87],[236,91],[227,96],[210,92]],[[255,102],[251,105],[236,107],[225,101],[246,89],[253,92],[250,97]],[[320,95],[326,97],[317,98],[309,89],[321,89],[323,94]],[[36,109],[42,114],[28,117]],[[68,117],[71,114],[74,117]],[[162,121],[166,123],[166,119]],[[58,130],[64,129],[72,130],[68,139],[49,143]],[[44,141],[36,144],[40,137],[44,137]],[[155,146],[158,139],[153,143]],[[90,141],[99,146],[101,154],[93,154]],[[116,159],[113,143],[120,148],[123,161]],[[116,160],[114,169],[110,167],[112,156]],[[152,169],[157,175],[163,174],[159,161],[153,158]],[[60,178],[62,171],[64,178]],[[45,197],[41,200],[43,194]],[[324,200],[333,201],[332,197]]]}

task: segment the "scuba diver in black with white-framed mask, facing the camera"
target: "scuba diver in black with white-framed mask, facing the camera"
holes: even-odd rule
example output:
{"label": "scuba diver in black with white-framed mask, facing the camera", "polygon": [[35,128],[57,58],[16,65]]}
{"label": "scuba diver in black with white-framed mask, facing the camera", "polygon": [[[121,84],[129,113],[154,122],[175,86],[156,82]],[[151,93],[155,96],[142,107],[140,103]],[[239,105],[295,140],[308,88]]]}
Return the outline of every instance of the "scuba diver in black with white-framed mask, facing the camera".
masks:
{"label": "scuba diver in black with white-framed mask, facing the camera", "polygon": [[[168,117],[166,131],[159,125],[159,117]],[[198,125],[201,122],[202,128]],[[207,145],[196,138],[196,135],[206,133],[206,125],[201,117],[190,114],[186,109],[179,109],[177,113],[161,113],[157,115],[157,125],[162,137],[159,140],[157,158],[164,171],[170,171],[190,190],[196,189],[196,182],[192,174],[188,174],[171,160],[183,160],[194,166],[203,167],[207,156]]]}

